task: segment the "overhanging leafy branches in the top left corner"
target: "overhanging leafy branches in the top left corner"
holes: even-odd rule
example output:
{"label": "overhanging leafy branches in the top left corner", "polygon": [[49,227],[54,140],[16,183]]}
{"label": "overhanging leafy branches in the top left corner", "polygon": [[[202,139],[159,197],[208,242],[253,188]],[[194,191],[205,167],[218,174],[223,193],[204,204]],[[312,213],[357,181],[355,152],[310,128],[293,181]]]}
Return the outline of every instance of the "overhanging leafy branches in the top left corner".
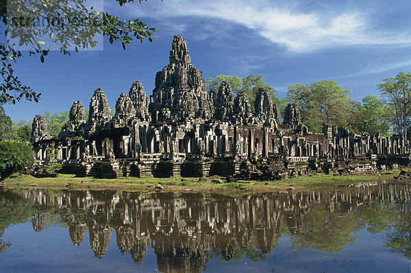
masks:
{"label": "overhanging leafy branches in the top left corner", "polygon": [[[134,3],[134,0],[116,0],[119,5]],[[147,0],[138,0],[138,2]],[[151,42],[155,28],[149,28],[137,18],[121,21],[108,12],[86,7],[86,0],[13,0],[1,1],[0,20],[7,26],[0,35],[5,42],[0,43],[1,69],[0,105],[16,103],[21,99],[38,101],[40,93],[25,86],[15,75],[12,64],[22,57],[21,47],[29,49],[28,55],[39,55],[45,62],[51,46],[58,47],[64,55],[70,49],[97,46],[96,36],[108,36],[110,43],[121,42],[123,49],[135,38]],[[134,36],[134,37],[133,37]]]}

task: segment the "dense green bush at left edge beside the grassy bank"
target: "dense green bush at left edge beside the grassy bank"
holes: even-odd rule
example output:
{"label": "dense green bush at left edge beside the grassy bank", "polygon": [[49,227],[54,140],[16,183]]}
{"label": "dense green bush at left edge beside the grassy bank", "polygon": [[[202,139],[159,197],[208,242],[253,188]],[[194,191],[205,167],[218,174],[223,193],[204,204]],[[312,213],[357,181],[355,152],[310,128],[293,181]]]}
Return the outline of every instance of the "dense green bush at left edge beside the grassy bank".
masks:
{"label": "dense green bush at left edge beside the grassy bank", "polygon": [[0,141],[0,180],[33,164],[32,144]]}

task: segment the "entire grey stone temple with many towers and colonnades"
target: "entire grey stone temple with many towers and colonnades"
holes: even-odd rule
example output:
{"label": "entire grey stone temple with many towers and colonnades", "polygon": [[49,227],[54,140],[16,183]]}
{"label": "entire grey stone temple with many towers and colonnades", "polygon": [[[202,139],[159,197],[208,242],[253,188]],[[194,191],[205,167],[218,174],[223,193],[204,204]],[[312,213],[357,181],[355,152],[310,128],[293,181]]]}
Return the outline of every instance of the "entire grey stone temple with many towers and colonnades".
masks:
{"label": "entire grey stone temple with many towers and colonnades", "polygon": [[[254,112],[247,96],[234,96],[228,83],[206,91],[186,40],[174,36],[170,63],[155,75],[147,96],[139,81],[121,93],[114,116],[101,88],[86,111],[73,103],[69,122],[51,138],[44,117],[33,120],[35,166],[54,150],[65,172],[78,176],[208,177],[280,179],[316,172],[365,172],[409,164],[401,135],[351,133],[324,126],[310,133],[299,109],[284,116],[260,88]],[[47,147],[54,145],[54,149]],[[40,168],[40,167],[39,167]]]}

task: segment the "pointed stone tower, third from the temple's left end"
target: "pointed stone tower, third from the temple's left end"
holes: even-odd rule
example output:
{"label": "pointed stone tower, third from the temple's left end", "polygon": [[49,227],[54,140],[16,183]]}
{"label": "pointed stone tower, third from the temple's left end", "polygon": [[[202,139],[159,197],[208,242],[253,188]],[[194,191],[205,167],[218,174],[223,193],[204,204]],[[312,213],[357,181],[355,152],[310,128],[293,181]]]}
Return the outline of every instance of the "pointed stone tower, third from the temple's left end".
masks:
{"label": "pointed stone tower, third from the temple's left end", "polygon": [[99,88],[95,90],[90,100],[86,129],[89,134],[95,133],[95,131],[104,128],[111,119],[112,113],[107,97],[104,91]]}

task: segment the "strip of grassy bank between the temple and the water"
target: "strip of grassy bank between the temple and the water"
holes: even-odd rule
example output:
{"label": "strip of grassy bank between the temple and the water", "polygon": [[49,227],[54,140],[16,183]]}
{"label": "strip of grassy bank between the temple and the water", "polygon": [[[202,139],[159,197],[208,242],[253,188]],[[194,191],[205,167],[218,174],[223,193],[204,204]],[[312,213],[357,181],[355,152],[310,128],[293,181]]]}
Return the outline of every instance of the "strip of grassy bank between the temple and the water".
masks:
{"label": "strip of grassy bank between the temple and the water", "polygon": [[[25,174],[13,174],[1,183],[8,187],[19,188],[66,188],[76,190],[130,190],[139,192],[275,192],[285,190],[322,189],[355,183],[369,183],[393,179],[398,170],[364,175],[327,175],[318,174],[310,177],[296,177],[279,181],[236,181],[227,183],[225,178],[207,177],[124,177],[119,179],[94,179],[92,177],[75,177],[71,174],[60,174],[56,178],[36,178]],[[216,181],[221,180],[221,183]]]}

